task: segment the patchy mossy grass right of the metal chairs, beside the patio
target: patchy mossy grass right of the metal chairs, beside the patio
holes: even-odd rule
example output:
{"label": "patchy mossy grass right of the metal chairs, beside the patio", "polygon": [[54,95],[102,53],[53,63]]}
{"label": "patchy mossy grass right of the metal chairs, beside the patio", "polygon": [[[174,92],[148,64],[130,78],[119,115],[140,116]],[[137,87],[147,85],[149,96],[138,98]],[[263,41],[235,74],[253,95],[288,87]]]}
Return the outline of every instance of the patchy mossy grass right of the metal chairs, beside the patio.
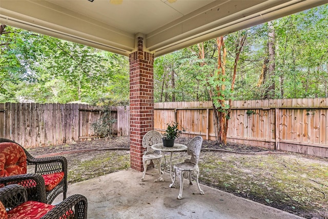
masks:
{"label": "patchy mossy grass right of the metal chairs, beside the patio", "polygon": [[328,217],[328,162],[297,154],[203,152],[200,181],[303,217]]}

